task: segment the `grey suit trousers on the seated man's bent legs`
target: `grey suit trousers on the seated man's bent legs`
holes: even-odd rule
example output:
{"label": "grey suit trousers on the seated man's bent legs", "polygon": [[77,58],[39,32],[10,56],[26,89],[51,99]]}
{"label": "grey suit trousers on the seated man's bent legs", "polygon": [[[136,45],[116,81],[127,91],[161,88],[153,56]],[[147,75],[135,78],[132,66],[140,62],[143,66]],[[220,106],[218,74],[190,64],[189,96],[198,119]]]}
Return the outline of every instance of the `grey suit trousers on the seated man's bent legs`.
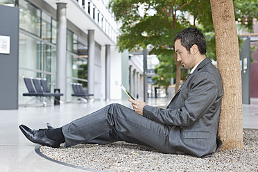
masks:
{"label": "grey suit trousers on the seated man's bent legs", "polygon": [[169,145],[170,129],[117,103],[62,126],[67,147],[83,143],[126,141],[149,146],[163,153],[175,153]]}

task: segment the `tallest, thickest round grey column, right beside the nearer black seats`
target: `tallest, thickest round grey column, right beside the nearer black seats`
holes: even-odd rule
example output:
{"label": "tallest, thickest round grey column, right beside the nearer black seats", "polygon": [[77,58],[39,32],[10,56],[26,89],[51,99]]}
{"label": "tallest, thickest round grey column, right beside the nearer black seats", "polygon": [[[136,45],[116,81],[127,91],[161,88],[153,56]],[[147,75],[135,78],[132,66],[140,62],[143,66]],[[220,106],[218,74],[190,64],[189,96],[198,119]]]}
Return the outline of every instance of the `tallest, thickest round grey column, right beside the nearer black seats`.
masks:
{"label": "tallest, thickest round grey column, right beside the nearer black seats", "polygon": [[57,62],[56,62],[56,88],[60,89],[60,92],[64,96],[60,97],[60,100],[66,101],[67,81],[66,81],[66,69],[67,69],[67,3],[57,4],[57,22],[58,22],[58,37],[57,37]]}

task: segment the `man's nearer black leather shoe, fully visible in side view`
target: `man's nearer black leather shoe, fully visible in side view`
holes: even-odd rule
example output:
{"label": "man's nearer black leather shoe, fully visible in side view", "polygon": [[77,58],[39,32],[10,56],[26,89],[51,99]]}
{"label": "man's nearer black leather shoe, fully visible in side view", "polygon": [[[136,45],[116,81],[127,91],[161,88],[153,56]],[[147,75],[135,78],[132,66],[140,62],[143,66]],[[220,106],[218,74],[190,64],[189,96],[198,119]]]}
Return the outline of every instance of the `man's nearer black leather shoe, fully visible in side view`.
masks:
{"label": "man's nearer black leather shoe, fully visible in side view", "polygon": [[25,137],[27,137],[28,140],[35,144],[40,144],[42,146],[51,146],[53,148],[60,147],[60,143],[58,141],[46,137],[46,130],[49,129],[33,130],[23,124],[19,126],[19,129],[22,130],[22,133],[24,133]]}

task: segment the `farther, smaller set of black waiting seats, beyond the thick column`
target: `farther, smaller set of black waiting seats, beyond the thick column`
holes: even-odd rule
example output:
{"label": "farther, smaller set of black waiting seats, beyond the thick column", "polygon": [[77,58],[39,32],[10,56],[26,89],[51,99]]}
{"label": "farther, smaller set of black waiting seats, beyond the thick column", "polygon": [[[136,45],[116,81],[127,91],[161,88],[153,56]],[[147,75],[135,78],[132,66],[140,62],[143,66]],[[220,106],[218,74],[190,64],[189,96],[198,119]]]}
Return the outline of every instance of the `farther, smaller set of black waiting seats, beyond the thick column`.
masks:
{"label": "farther, smaller set of black waiting seats, beyond the thick column", "polygon": [[85,93],[83,89],[83,84],[81,83],[71,83],[71,87],[74,90],[74,94],[71,94],[71,96],[74,96],[79,101],[83,101],[87,103],[87,101],[94,101],[94,99],[90,98],[90,96],[94,96],[94,94],[87,94]]}

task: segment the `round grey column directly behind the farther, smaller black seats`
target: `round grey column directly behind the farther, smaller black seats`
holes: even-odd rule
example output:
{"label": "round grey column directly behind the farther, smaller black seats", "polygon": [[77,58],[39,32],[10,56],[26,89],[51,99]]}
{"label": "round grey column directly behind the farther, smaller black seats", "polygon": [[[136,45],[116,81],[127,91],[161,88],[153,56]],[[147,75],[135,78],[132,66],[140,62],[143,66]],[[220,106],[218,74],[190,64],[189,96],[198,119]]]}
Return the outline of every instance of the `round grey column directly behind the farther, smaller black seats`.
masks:
{"label": "round grey column directly behind the farther, smaller black seats", "polygon": [[94,30],[88,30],[88,90],[94,94],[95,37]]}

